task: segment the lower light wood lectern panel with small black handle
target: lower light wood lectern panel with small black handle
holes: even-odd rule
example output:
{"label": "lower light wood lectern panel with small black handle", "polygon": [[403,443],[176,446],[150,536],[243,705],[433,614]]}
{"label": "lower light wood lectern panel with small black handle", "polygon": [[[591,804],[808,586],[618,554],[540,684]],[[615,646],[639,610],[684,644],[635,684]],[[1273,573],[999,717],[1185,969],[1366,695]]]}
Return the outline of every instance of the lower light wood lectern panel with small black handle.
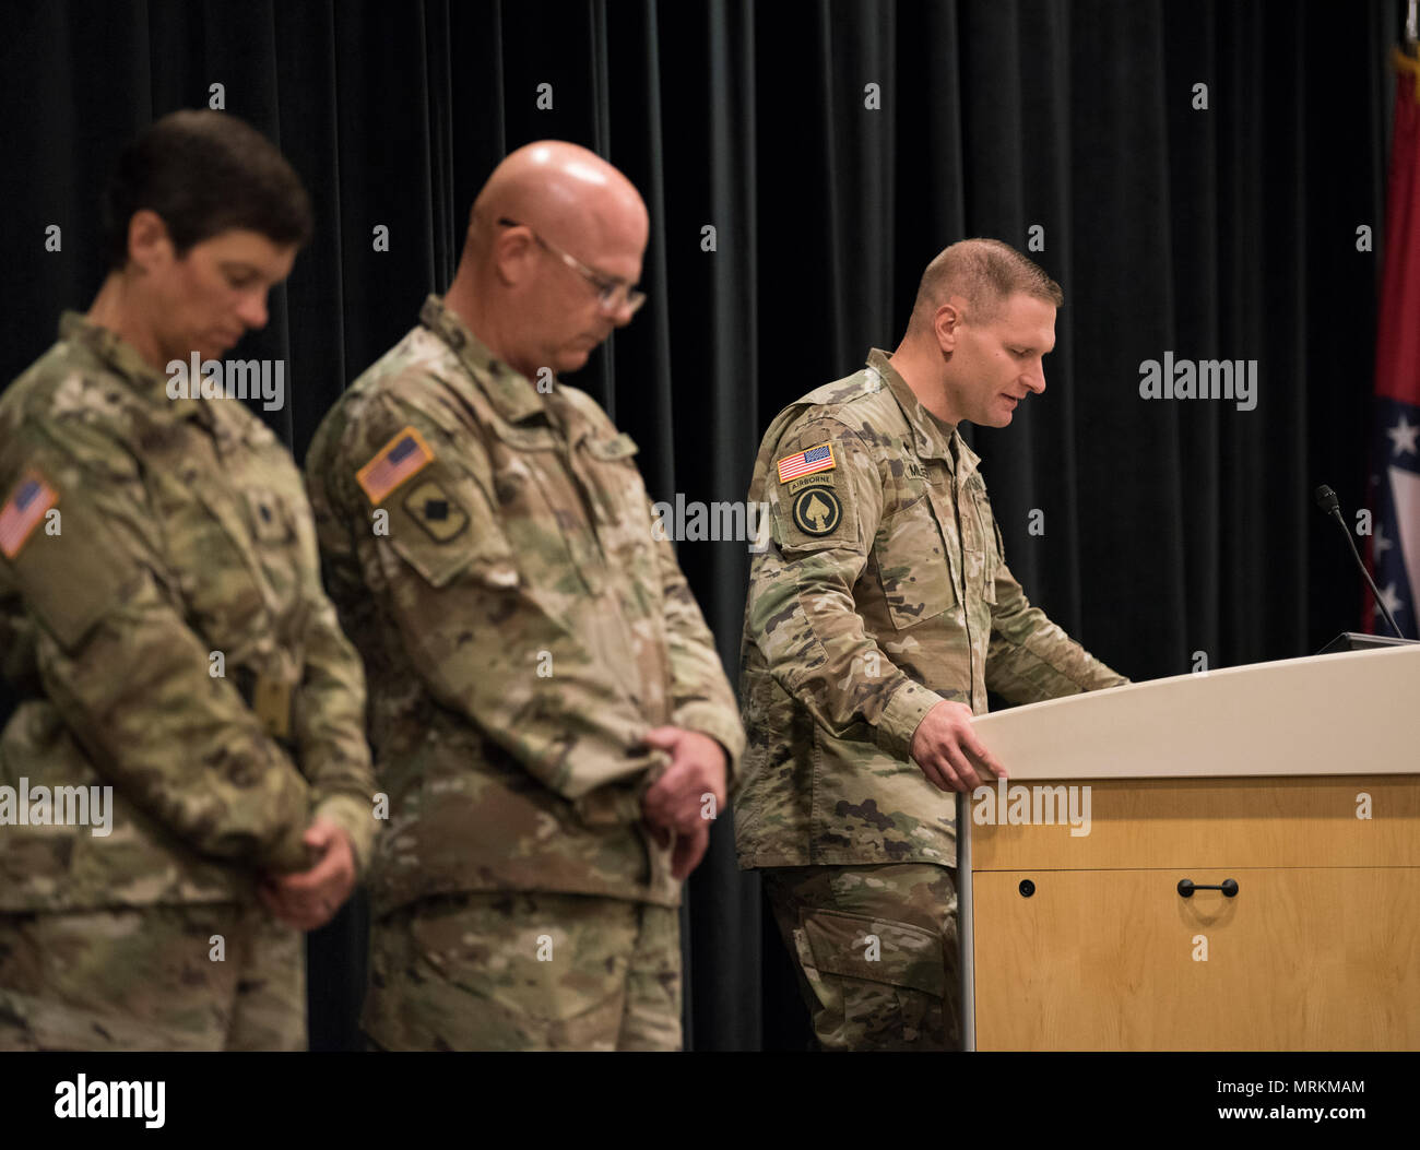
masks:
{"label": "lower light wood lectern panel with small black handle", "polygon": [[[1238,894],[1184,899],[1184,877]],[[1420,869],[973,879],[977,1049],[1420,1049]]]}

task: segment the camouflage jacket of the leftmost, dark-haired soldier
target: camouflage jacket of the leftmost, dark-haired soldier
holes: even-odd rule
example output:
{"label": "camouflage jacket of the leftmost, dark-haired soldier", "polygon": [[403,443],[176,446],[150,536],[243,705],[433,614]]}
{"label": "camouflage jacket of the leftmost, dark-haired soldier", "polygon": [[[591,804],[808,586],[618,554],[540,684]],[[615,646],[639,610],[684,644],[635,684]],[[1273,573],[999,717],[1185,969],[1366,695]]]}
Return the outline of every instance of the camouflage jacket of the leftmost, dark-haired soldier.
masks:
{"label": "camouflage jacket of the leftmost, dark-haired soldier", "polygon": [[[240,402],[168,386],[68,312],[0,396],[0,910],[254,900],[317,815],[369,859],[364,676],[301,474]],[[108,833],[45,825],[102,787]]]}

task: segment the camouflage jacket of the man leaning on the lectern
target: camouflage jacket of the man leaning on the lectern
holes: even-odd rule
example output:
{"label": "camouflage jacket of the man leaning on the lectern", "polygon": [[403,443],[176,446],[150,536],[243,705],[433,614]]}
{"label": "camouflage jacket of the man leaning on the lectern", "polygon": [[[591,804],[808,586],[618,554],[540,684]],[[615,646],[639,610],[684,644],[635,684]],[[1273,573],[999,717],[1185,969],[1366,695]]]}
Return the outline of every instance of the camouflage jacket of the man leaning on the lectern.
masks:
{"label": "camouflage jacket of the man leaning on the lectern", "polygon": [[943,426],[875,349],[764,434],[750,498],[768,503],[772,537],[740,649],[743,867],[954,866],[953,796],[909,758],[923,716],[944,699],[983,714],[988,687],[1034,703],[1126,681],[1027,602],[978,459]]}

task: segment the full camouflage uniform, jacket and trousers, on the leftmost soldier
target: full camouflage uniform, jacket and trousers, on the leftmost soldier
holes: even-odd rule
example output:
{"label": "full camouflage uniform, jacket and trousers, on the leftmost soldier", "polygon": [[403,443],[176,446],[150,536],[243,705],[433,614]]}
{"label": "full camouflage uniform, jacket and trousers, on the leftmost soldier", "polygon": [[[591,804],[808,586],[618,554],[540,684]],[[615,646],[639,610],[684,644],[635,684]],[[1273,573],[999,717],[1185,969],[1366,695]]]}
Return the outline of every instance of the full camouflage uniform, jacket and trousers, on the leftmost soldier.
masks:
{"label": "full camouflage uniform, jacket and trousers, on the leftmost soldier", "polygon": [[65,314],[0,396],[0,785],[114,788],[106,836],[0,825],[0,1049],[304,1048],[304,938],[256,882],[310,866],[315,816],[369,859],[364,677],[300,471],[168,386]]}

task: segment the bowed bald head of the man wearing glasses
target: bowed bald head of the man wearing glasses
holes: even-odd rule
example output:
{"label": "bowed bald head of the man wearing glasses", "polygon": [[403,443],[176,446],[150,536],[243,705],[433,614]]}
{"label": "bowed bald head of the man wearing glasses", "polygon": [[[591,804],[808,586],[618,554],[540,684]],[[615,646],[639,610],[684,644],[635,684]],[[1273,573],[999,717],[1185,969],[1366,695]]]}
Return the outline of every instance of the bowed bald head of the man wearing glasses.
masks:
{"label": "bowed bald head of the man wearing glasses", "polygon": [[479,192],[446,302],[530,379],[577,371],[630,322],[649,230],[636,187],[595,152],[528,143]]}

